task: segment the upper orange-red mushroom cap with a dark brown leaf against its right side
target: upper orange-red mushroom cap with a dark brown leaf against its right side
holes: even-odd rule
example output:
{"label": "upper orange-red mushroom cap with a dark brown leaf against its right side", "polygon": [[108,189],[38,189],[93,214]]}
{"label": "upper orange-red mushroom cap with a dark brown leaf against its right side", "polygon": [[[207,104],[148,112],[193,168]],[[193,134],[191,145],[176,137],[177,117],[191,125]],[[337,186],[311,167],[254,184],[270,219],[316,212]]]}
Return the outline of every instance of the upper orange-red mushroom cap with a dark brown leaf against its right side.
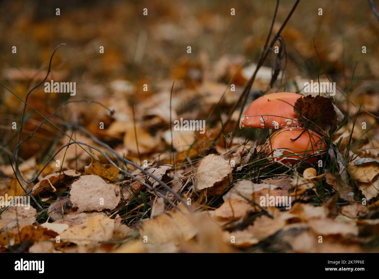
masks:
{"label": "upper orange-red mushroom cap with a dark brown leaf against its right side", "polygon": [[247,107],[240,120],[240,128],[282,129],[301,127],[293,106],[302,95],[293,92],[279,92],[259,97]]}

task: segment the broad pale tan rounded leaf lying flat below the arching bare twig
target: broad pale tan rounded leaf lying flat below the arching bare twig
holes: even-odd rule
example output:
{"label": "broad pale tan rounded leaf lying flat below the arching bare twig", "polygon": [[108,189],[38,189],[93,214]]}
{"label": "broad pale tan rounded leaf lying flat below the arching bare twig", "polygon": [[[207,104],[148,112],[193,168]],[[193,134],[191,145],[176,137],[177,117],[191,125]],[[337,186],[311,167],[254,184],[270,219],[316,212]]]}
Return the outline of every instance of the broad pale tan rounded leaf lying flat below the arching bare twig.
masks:
{"label": "broad pale tan rounded leaf lying flat below the arching bare twig", "polygon": [[71,185],[70,201],[79,212],[112,210],[120,199],[120,186],[108,184],[98,175],[83,175]]}

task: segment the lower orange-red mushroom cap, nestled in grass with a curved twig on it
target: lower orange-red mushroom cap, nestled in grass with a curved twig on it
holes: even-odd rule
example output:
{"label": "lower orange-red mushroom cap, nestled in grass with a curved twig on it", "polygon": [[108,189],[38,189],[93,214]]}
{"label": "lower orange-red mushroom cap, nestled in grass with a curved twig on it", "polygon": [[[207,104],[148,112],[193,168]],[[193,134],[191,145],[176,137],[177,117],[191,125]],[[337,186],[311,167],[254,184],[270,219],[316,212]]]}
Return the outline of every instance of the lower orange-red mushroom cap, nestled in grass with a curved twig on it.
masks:
{"label": "lower orange-red mushroom cap, nestled in grass with a curved twig on it", "polygon": [[312,166],[326,153],[323,137],[310,129],[284,128],[276,131],[266,142],[266,156],[271,162],[290,163],[304,159]]}

